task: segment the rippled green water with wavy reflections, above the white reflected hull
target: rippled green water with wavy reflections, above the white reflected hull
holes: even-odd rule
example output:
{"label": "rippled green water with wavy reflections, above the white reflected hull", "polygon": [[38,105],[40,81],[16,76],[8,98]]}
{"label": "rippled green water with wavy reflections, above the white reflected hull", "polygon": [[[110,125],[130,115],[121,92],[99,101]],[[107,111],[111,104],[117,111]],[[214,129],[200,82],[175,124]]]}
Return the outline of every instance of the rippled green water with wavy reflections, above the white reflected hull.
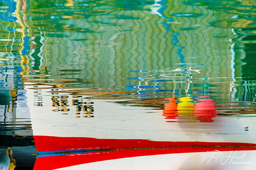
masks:
{"label": "rippled green water with wavy reflections, above the white reflected hull", "polygon": [[[33,135],[24,83],[152,110],[164,110],[166,98],[181,106],[182,97],[210,96],[212,117],[200,118],[200,109],[190,114],[198,123],[255,117],[255,6],[249,0],[2,0],[0,134]],[[43,108],[47,95],[37,94],[35,105]]]}

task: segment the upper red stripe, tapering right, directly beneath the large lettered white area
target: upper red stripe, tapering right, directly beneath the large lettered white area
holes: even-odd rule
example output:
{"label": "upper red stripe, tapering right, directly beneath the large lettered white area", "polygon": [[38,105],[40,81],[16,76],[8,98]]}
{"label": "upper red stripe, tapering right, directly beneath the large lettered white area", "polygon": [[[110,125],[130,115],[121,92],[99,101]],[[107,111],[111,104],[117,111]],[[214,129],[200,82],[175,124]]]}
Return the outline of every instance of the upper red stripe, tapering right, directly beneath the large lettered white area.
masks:
{"label": "upper red stripe, tapering right, directly beneath the large lettered white area", "polygon": [[82,137],[34,136],[37,151],[72,151],[94,149],[139,148],[227,148],[227,150],[255,150],[256,144],[234,142],[173,142],[145,139],[96,139]]}

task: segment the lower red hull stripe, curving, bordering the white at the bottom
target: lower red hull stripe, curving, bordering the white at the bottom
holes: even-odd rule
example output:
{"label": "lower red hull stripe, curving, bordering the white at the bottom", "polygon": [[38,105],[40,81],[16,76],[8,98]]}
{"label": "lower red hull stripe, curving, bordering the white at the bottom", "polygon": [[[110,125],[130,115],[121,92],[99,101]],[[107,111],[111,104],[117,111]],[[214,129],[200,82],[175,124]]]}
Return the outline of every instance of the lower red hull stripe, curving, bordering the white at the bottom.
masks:
{"label": "lower red hull stripe, curving, bordering the white at the bottom", "polygon": [[[97,161],[106,161],[119,158],[130,158],[137,156],[147,155],[162,155],[171,153],[187,153],[187,152],[206,152],[214,151],[230,151],[237,150],[234,148],[172,148],[172,149],[138,149],[138,150],[114,150],[114,151],[102,151],[102,152],[89,152],[82,154],[70,154],[59,156],[47,156],[37,157],[34,165],[34,170],[52,170],[57,168],[64,168],[73,165],[86,164]],[[241,149],[239,149],[241,150]],[[250,150],[250,149],[245,149]],[[47,165],[47,166],[45,166]]]}

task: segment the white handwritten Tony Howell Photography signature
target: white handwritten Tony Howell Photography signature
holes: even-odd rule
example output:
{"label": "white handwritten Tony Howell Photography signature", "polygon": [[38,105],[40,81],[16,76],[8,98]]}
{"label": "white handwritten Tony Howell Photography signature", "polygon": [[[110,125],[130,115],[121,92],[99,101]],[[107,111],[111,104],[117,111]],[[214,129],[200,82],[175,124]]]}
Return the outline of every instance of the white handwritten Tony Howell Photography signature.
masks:
{"label": "white handwritten Tony Howell Photography signature", "polygon": [[[246,152],[243,153],[242,155],[241,154],[236,154],[236,151],[229,151],[228,153],[229,154],[224,154],[225,156],[220,156],[222,155],[222,152],[221,151],[218,151],[218,150],[215,150],[215,151],[208,151],[210,153],[210,157],[209,157],[209,160],[207,162],[207,164],[212,160],[212,161],[218,161],[220,160],[220,163],[222,165],[224,165],[226,162],[229,161],[229,164],[236,164],[237,160],[240,160],[241,159],[243,160],[245,155],[246,155]],[[226,156],[227,155],[227,156]],[[233,160],[233,161],[232,161]],[[236,161],[235,161],[236,160]],[[235,162],[234,162],[235,161]],[[251,162],[244,162],[243,164],[250,164]]]}

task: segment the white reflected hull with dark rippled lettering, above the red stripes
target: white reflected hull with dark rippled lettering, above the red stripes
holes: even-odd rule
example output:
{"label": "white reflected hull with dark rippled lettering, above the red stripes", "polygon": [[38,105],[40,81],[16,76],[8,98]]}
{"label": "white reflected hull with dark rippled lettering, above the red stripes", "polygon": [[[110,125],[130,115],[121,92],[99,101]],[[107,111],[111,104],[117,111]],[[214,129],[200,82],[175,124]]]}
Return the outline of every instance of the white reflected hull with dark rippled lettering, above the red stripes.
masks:
{"label": "white reflected hull with dark rippled lettering, above the red stripes", "polygon": [[[38,86],[50,87],[50,86]],[[37,87],[37,88],[38,88]],[[101,139],[148,139],[153,141],[205,141],[205,142],[244,142],[255,143],[255,117],[237,119],[235,117],[214,117],[214,122],[204,123],[196,119],[184,117],[164,119],[162,110],[149,110],[147,107],[131,107],[113,103],[115,100],[72,98],[71,94],[61,91],[68,89],[31,89],[33,86],[25,84],[27,90],[27,105],[29,107],[33,135],[58,137],[88,137]],[[36,92],[36,93],[35,93]],[[58,94],[51,94],[58,92]],[[35,96],[35,94],[37,96]],[[38,96],[39,94],[39,96]],[[66,96],[68,112],[52,111],[64,107],[52,107],[54,96]],[[72,105],[72,100],[94,102],[94,117],[88,116]],[[41,100],[41,101],[37,101]],[[60,100],[60,98],[58,99]],[[43,105],[38,105],[42,102]],[[62,114],[68,113],[68,114]],[[80,117],[76,117],[80,116]],[[168,123],[174,120],[177,122]],[[244,131],[248,126],[249,131]]]}

